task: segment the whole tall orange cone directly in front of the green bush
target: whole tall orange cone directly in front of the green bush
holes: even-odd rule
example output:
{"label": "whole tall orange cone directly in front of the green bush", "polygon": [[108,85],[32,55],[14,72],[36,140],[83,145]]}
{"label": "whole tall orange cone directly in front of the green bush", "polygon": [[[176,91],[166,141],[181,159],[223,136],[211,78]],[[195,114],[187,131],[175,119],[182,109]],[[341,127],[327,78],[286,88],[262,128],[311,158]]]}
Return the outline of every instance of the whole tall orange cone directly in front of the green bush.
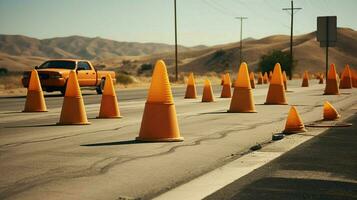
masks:
{"label": "whole tall orange cone directly in front of the green bush", "polygon": [[283,76],[281,74],[281,67],[279,63],[277,63],[274,67],[274,73],[269,84],[265,104],[288,104],[285,97]]}

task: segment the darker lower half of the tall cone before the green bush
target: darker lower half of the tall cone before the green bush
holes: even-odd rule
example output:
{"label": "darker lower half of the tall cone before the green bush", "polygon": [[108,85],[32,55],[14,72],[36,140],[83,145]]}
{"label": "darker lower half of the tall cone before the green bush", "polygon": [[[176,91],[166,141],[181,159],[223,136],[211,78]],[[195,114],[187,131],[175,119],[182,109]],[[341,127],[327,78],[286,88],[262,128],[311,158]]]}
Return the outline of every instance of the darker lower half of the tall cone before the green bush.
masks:
{"label": "darker lower half of the tall cone before the green bush", "polygon": [[284,85],[270,84],[267,99],[265,101],[266,105],[287,105],[285,97]]}

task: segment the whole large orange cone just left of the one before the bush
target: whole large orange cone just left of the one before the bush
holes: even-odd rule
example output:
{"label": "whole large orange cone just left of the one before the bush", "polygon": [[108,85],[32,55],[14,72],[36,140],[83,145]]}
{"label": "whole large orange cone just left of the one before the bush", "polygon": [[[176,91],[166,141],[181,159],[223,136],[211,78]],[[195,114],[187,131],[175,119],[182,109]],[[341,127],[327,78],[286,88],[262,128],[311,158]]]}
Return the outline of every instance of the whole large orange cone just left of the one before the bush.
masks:
{"label": "whole large orange cone just left of the one before the bush", "polygon": [[252,113],[255,111],[252,87],[250,85],[248,66],[242,62],[235,82],[233,97],[228,112]]}

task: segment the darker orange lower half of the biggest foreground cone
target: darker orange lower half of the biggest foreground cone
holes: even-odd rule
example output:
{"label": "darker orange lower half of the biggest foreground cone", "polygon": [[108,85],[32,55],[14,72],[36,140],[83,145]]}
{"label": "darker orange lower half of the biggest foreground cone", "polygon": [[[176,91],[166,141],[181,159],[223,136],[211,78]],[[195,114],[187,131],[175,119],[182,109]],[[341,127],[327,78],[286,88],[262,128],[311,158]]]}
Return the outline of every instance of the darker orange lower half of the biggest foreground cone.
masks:
{"label": "darker orange lower half of the biggest foreground cone", "polygon": [[176,109],[172,103],[146,102],[138,141],[146,142],[180,142]]}

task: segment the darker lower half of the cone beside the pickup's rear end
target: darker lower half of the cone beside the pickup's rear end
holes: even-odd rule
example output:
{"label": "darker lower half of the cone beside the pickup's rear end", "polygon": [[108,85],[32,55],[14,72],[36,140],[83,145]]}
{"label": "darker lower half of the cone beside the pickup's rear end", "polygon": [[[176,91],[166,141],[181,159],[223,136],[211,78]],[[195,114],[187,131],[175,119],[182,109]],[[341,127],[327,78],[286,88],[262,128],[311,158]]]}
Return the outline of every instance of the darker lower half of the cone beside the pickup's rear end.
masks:
{"label": "darker lower half of the cone beside the pickup's rear end", "polygon": [[[110,106],[108,106],[110,105]],[[118,100],[116,96],[102,96],[98,119],[103,118],[122,118],[120,115]]]}

